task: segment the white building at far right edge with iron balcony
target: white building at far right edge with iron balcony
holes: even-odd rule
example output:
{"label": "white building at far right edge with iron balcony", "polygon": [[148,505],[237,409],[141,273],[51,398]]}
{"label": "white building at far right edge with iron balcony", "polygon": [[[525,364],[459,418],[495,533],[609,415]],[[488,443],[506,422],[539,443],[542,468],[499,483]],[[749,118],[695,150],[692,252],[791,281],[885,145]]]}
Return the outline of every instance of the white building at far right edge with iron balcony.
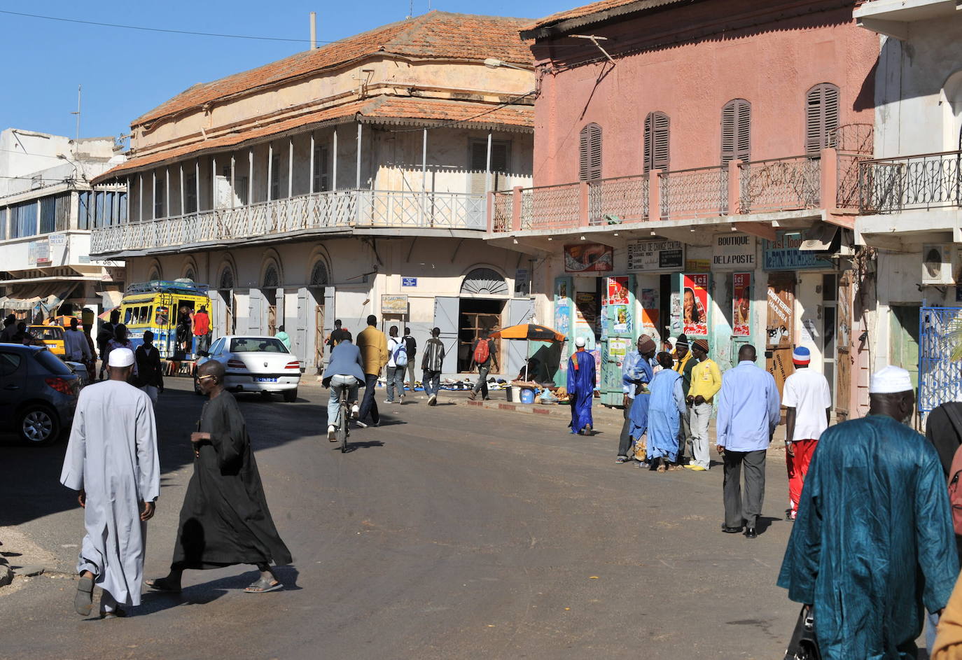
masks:
{"label": "white building at far right edge with iron balcony", "polygon": [[856,222],[869,255],[857,339],[864,371],[909,369],[926,413],[962,395],[952,360],[962,329],[962,13],[950,0],[873,0],[854,15],[881,42],[877,158],[861,165]]}

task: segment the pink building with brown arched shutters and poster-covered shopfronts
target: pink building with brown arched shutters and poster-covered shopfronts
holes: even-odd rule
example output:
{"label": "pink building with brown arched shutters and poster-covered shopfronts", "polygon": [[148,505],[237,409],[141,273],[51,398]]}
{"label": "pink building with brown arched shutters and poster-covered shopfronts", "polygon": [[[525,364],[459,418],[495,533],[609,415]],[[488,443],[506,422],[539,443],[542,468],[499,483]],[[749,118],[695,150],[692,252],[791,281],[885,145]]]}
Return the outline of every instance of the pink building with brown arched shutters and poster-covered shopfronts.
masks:
{"label": "pink building with brown arched shutters and poster-covered shopfronts", "polygon": [[544,259],[544,317],[597,351],[603,400],[640,333],[781,382],[812,350],[848,414],[857,162],[877,41],[854,2],[605,0],[538,20],[534,181],[493,195],[491,243]]}

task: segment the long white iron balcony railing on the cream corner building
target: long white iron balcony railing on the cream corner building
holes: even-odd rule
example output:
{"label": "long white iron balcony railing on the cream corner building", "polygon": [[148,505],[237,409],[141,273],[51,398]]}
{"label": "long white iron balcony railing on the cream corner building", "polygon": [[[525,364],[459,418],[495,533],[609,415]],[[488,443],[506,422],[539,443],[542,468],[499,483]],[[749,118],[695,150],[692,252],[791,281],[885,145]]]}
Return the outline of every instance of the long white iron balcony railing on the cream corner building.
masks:
{"label": "long white iron balcony railing on the cream corner building", "polygon": [[243,241],[328,227],[484,231],[485,195],[334,190],[93,230],[91,255]]}

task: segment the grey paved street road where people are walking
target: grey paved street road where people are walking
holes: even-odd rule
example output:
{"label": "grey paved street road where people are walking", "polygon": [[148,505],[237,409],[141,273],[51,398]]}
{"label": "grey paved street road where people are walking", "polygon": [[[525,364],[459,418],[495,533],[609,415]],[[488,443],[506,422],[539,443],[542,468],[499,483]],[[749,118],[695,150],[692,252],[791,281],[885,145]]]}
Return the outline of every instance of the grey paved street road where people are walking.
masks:
{"label": "grey paved street road where people are walking", "polygon": [[[163,575],[202,400],[168,379],[163,489],[146,574]],[[381,398],[383,399],[383,390]],[[416,399],[341,454],[326,391],[241,397],[267,499],[294,555],[288,589],[248,595],[253,567],[186,574],[127,620],[73,613],[83,520],[58,484],[64,444],[0,439],[0,540],[53,569],[0,589],[4,658],[780,658],[797,606],[774,586],[790,523],[769,462],[755,541],[722,534],[722,470],[614,463],[618,428]],[[446,399],[446,400],[445,400]],[[450,401],[458,401],[455,405]],[[382,406],[382,410],[385,407]],[[771,524],[769,524],[771,522]],[[47,554],[49,553],[49,554]],[[18,556],[19,555],[19,556]],[[39,559],[37,559],[39,558]]]}

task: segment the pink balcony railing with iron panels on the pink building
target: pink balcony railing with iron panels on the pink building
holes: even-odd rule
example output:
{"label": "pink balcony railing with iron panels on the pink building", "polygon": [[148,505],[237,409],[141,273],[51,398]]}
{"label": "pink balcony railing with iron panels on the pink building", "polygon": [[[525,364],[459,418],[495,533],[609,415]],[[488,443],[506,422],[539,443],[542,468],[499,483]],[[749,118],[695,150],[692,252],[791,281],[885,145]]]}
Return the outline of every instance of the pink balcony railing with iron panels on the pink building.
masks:
{"label": "pink balcony railing with iron panels on the pink building", "polygon": [[[620,225],[648,220],[854,208],[857,154],[660,171],[494,193],[494,234]],[[657,212],[652,213],[653,209]]]}

